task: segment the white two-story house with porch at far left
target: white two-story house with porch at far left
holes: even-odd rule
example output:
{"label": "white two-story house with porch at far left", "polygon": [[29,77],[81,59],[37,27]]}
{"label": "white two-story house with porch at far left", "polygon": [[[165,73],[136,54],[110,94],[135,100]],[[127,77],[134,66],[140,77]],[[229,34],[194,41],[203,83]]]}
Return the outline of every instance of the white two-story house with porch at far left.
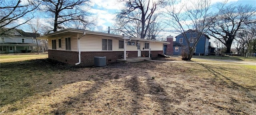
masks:
{"label": "white two-story house with porch at far left", "polygon": [[38,42],[38,48],[36,45],[36,37],[40,34],[24,32],[20,29],[1,28],[0,35],[0,53],[29,53],[29,52],[42,52],[42,45],[40,40]]}

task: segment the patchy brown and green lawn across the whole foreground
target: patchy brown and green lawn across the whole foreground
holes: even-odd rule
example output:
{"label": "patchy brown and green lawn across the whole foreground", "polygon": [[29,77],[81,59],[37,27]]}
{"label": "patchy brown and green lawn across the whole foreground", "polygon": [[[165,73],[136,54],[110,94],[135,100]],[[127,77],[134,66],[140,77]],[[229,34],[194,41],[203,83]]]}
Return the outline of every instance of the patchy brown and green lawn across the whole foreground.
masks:
{"label": "patchy brown and green lawn across the whole foreground", "polygon": [[0,85],[4,115],[256,113],[254,65],[142,61],[93,68],[50,59],[1,61]]}

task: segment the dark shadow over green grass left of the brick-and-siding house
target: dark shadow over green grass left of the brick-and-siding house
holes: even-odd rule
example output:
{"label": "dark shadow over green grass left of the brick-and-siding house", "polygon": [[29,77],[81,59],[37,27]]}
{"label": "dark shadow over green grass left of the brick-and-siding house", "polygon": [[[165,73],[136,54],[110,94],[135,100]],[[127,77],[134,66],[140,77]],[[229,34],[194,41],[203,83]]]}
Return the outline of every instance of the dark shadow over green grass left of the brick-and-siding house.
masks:
{"label": "dark shadow over green grass left of the brick-and-siding house", "polygon": [[[61,85],[75,81],[52,84],[54,75],[68,71],[78,71],[81,67],[67,65],[52,59],[33,59],[1,63],[1,103],[0,106],[15,103],[35,93],[51,91]],[[80,79],[81,81],[84,79]]]}

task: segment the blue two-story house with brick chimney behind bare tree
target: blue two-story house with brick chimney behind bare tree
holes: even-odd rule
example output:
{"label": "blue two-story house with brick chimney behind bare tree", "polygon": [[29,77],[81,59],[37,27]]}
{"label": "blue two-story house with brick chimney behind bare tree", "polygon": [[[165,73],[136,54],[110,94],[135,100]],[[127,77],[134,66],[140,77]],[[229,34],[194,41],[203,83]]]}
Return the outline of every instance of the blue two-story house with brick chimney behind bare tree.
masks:
{"label": "blue two-story house with brick chimney behind bare tree", "polygon": [[[189,38],[190,45],[193,44],[198,32],[196,32],[195,30],[188,30],[184,33],[186,34],[187,38]],[[183,34],[180,34],[175,37],[176,41],[173,42],[173,51],[174,51],[173,54],[174,55],[180,55],[182,52],[182,49],[184,49],[186,52],[188,52],[188,44],[187,44]],[[209,54],[209,46],[210,46],[209,40],[210,40],[209,36],[202,34],[200,36],[198,44],[196,45],[194,55],[197,55],[197,56],[198,55],[200,55],[200,56],[208,55]]]}

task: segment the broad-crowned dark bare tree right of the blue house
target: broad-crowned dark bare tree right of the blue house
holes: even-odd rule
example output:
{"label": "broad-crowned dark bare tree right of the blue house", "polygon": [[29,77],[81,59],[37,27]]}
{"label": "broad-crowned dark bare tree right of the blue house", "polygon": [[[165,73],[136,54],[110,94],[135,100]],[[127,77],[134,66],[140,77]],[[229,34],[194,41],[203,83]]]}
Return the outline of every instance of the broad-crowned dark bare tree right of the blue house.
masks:
{"label": "broad-crowned dark bare tree right of the blue house", "polygon": [[[221,10],[214,23],[210,25],[208,33],[210,36],[220,40],[230,53],[233,40],[238,32],[249,24],[256,23],[256,8],[250,5],[231,4]],[[218,36],[221,36],[219,38]]]}

